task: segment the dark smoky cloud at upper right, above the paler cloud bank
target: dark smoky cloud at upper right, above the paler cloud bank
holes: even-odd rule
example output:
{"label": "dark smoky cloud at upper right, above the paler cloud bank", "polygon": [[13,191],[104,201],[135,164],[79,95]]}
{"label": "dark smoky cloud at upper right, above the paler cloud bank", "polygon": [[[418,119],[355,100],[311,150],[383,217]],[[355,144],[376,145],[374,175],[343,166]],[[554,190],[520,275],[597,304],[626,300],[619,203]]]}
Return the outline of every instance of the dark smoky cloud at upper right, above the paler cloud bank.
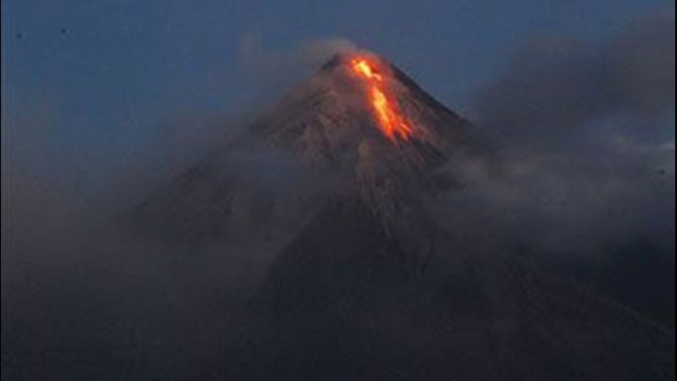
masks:
{"label": "dark smoky cloud at upper right, above the paler cloud bank", "polygon": [[480,91],[478,122],[532,145],[578,140],[581,129],[611,116],[645,125],[674,104],[674,33],[671,12],[632,23],[599,46],[534,38]]}

